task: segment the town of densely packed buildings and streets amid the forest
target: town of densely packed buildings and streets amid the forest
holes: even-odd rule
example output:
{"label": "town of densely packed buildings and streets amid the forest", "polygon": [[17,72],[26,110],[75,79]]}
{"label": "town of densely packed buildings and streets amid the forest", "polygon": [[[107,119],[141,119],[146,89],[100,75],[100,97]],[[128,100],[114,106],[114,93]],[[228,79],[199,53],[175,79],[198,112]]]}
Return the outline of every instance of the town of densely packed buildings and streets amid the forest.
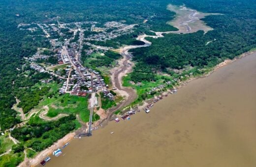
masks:
{"label": "town of densely packed buildings and streets amid the forest", "polygon": [[[81,52],[84,50],[87,55],[93,52],[108,51],[108,47],[96,46],[90,41],[105,41],[118,36],[130,33],[135,25],[126,25],[120,22],[107,22],[103,28],[97,22],[75,22],[50,24],[20,24],[21,30],[42,31],[45,37],[49,39],[52,45],[52,51],[55,54],[45,55],[44,52],[38,51],[32,57],[25,57],[31,64],[31,68],[39,72],[46,72],[57,77],[63,86],[59,92],[61,94],[70,93],[71,95],[86,96],[87,93],[102,91],[105,96],[113,100],[114,96],[110,93],[109,85],[99,72],[83,66]],[[86,34],[89,34],[85,37]],[[88,46],[83,49],[83,46]],[[54,62],[40,63],[53,57]],[[46,81],[42,81],[46,82]]]}

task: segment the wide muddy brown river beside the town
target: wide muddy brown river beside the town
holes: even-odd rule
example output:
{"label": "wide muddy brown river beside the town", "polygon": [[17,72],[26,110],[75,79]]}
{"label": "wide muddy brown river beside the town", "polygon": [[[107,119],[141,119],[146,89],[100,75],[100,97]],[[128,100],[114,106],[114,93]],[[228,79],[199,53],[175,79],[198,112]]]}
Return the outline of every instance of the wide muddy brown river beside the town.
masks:
{"label": "wide muddy brown river beside the town", "polygon": [[73,139],[46,166],[256,167],[256,54],[192,81],[148,114]]}

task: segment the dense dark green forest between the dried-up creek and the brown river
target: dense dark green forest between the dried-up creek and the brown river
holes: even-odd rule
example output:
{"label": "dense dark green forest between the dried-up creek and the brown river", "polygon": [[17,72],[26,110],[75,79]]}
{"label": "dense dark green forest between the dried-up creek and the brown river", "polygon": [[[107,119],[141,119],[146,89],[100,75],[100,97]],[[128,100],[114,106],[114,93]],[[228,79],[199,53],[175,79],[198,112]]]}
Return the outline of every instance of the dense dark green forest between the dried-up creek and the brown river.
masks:
{"label": "dense dark green forest between the dried-up creek and the brown river", "polygon": [[[147,75],[158,71],[173,74],[173,69],[191,67],[195,69],[209,68],[232,59],[256,47],[256,4],[251,1],[228,0],[214,3],[215,0],[194,2],[183,0],[188,7],[210,15],[203,19],[208,26],[214,28],[204,34],[198,31],[190,34],[165,34],[164,38],[147,38],[152,42],[150,47],[134,49],[133,60],[139,62],[140,71],[134,68],[131,79],[134,82],[148,80]],[[174,4],[181,4],[173,0]],[[230,5],[232,3],[232,5]],[[240,5],[243,4],[243,7]],[[216,40],[214,40],[216,39]],[[213,41],[206,45],[208,41]],[[152,70],[148,70],[151,67]],[[196,70],[201,73],[200,70]],[[144,74],[144,75],[142,75]]]}

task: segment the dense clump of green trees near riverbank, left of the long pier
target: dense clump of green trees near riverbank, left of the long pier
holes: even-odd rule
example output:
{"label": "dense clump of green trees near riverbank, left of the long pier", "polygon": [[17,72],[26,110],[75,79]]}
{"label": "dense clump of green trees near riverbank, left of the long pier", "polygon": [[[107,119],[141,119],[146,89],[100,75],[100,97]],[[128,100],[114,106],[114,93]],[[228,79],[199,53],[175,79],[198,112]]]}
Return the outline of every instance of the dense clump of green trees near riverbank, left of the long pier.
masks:
{"label": "dense clump of green trees near riverbank, left of the long pier", "polygon": [[[29,123],[26,126],[15,128],[11,135],[27,147],[41,151],[76,127],[75,115],[71,114],[57,121],[43,123]],[[20,151],[20,147],[18,149]]]}

